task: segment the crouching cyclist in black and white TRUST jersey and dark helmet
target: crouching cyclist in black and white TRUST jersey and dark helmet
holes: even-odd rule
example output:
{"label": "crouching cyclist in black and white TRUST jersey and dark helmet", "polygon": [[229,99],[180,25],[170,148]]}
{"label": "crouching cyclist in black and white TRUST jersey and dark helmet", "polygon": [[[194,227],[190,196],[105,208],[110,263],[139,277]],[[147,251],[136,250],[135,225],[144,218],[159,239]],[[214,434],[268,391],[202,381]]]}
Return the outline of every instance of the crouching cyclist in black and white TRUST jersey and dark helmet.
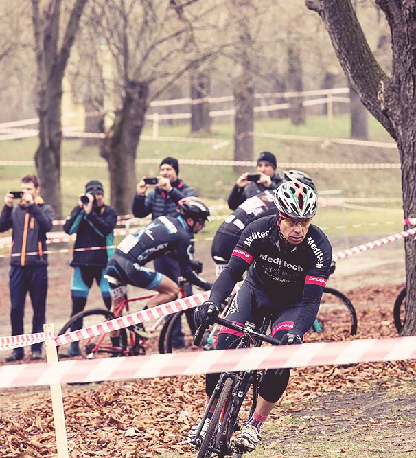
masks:
{"label": "crouching cyclist in black and white TRUST jersey and dark helmet", "polygon": [[211,283],[192,271],[188,254],[193,235],[203,229],[208,216],[209,209],[203,201],[194,196],[185,197],[178,202],[176,218],[159,216],[146,227],[126,236],[108,261],[106,271],[106,278],[113,288],[113,307],[124,295],[126,284],[159,293],[148,301],[148,307],[176,299],[178,285],[166,275],[145,267],[147,262],[164,254],[178,260],[181,275],[190,283],[210,290]]}

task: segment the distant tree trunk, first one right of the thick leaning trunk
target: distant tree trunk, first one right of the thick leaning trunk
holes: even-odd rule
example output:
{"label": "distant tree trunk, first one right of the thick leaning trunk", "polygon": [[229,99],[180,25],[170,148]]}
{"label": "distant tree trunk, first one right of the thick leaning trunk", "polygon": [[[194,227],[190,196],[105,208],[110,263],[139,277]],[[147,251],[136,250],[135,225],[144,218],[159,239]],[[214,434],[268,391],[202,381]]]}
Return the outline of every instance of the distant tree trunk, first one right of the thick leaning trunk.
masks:
{"label": "distant tree trunk, first one right of the thick leaning trunk", "polygon": [[191,132],[211,133],[209,103],[202,100],[209,95],[209,74],[198,71],[191,76]]}

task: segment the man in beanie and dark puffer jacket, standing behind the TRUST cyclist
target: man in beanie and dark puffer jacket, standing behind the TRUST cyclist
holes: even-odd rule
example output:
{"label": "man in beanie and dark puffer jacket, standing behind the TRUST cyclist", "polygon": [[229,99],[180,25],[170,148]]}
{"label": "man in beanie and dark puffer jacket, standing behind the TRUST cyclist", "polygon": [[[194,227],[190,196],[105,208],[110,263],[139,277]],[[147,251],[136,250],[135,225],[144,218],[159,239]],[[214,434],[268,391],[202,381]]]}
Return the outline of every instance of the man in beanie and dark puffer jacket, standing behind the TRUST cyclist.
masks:
{"label": "man in beanie and dark puffer jacket, standing behind the TRUST cyclist", "polygon": [[[174,157],[166,157],[159,165],[159,176],[157,185],[146,196],[146,191],[150,185],[144,181],[146,176],[137,184],[137,193],[132,205],[132,212],[135,216],[143,218],[152,214],[152,220],[159,218],[159,216],[173,216],[176,218],[178,202],[185,197],[196,197],[196,192],[189,187],[183,180],[178,178],[179,163]],[[193,246],[191,247],[193,253]],[[181,269],[177,260],[169,256],[158,257],[153,262],[154,269],[163,275],[166,275],[174,282],[178,281],[181,276]],[[189,288],[186,291],[187,295],[192,294]],[[178,328],[174,332],[173,345],[176,348],[185,346],[185,340],[180,330],[180,323],[178,321]]]}

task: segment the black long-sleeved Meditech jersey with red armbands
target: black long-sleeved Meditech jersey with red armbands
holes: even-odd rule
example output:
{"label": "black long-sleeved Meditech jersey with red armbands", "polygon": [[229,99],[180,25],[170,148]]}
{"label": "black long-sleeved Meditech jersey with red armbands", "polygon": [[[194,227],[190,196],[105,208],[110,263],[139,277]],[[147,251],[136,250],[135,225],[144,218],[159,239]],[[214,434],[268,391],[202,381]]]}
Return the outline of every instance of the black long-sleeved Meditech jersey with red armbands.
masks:
{"label": "black long-sleeved Meditech jersey with red armbands", "polygon": [[229,264],[213,284],[210,300],[219,306],[249,269],[247,279],[270,297],[276,308],[302,306],[294,328],[305,334],[319,309],[332,248],[314,225],[301,243],[290,244],[281,236],[278,221],[277,216],[264,216],[244,229]]}

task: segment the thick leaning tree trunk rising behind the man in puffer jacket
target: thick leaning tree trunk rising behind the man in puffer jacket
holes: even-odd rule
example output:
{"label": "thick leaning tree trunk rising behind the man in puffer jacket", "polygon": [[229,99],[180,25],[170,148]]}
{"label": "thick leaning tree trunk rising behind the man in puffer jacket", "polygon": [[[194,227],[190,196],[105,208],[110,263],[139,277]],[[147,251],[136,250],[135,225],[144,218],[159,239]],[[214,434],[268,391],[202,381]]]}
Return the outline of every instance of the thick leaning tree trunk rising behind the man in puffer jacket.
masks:
{"label": "thick leaning tree trunk rising behind the man in puffer jacket", "polygon": [[136,150],[148,108],[148,82],[129,82],[122,110],[102,143],[100,154],[108,163],[111,205],[130,214],[136,189]]}

